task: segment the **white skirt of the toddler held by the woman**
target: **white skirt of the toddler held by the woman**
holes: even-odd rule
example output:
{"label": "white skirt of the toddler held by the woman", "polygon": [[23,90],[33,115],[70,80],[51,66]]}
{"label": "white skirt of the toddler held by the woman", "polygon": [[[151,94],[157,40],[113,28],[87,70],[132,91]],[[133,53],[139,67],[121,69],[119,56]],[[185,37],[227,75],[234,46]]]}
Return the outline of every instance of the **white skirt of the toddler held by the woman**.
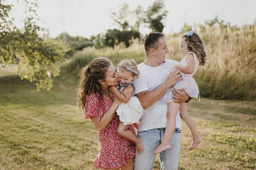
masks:
{"label": "white skirt of the toddler held by the woman", "polygon": [[[126,84],[122,87],[125,88],[130,85],[131,84]],[[140,120],[140,117],[143,114],[143,108],[140,104],[140,100],[133,94],[127,104],[120,104],[118,106],[116,113],[124,125],[131,125]]]}

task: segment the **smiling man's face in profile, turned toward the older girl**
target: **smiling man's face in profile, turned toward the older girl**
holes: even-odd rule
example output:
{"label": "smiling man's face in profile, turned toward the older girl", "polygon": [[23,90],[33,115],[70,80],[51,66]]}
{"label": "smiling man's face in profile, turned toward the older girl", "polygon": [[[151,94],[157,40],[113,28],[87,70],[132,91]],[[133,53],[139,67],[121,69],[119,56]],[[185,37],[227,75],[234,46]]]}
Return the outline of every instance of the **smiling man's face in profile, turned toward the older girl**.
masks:
{"label": "smiling man's face in profile, turned toward the older girl", "polygon": [[154,55],[159,64],[165,62],[165,54],[169,52],[167,47],[167,42],[164,37],[158,38],[158,44],[156,44],[156,49],[154,49]]}

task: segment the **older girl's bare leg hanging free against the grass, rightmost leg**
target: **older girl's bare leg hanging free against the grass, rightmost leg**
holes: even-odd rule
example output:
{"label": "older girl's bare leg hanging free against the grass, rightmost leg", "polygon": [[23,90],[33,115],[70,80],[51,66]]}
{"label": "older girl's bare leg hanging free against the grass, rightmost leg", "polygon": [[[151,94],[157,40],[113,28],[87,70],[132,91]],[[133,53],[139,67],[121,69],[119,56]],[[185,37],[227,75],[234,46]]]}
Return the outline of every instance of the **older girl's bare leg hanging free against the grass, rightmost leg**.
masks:
{"label": "older girl's bare leg hanging free against the grass, rightmost leg", "polygon": [[191,131],[191,134],[193,136],[193,142],[189,146],[189,150],[197,148],[198,145],[202,142],[202,139],[198,134],[195,122],[188,114],[186,103],[180,104],[180,117],[183,119],[183,121],[186,122],[186,125],[188,125],[189,130]]}

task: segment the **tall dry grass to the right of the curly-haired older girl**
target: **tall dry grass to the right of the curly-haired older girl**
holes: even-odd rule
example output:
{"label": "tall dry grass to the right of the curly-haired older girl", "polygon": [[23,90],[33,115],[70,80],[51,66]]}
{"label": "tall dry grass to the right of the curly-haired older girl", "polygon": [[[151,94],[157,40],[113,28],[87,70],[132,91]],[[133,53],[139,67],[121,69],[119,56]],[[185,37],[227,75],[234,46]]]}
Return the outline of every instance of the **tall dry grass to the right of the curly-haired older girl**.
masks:
{"label": "tall dry grass to the right of the curly-haired older girl", "polygon": [[195,75],[202,96],[256,99],[256,22],[242,29],[207,27],[199,32],[207,62]]}

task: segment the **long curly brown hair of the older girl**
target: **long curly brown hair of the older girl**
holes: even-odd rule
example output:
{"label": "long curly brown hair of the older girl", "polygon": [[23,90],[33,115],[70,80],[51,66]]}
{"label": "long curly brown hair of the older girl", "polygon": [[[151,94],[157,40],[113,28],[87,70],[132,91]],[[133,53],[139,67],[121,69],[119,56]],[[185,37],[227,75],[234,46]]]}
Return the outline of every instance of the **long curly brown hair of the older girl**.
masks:
{"label": "long curly brown hair of the older girl", "polygon": [[206,53],[204,51],[204,45],[200,36],[198,36],[198,34],[193,32],[193,35],[188,36],[188,34],[186,34],[182,36],[182,38],[184,38],[189,51],[192,51],[196,54],[200,62],[200,65],[204,65],[206,60]]}

